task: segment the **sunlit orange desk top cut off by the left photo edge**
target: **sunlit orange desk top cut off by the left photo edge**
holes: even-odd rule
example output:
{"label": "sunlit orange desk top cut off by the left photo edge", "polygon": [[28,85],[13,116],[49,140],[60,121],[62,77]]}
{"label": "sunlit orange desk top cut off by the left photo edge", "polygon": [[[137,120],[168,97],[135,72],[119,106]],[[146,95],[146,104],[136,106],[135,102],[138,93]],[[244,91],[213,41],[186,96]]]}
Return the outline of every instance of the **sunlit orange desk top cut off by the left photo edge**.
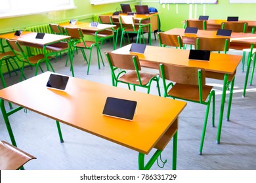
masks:
{"label": "sunlit orange desk top cut off by the left photo edge", "polygon": [[70,36],[67,35],[54,35],[54,34],[48,34],[45,33],[45,37],[43,39],[36,39],[37,33],[30,32],[30,31],[23,31],[20,36],[14,36],[13,33],[7,33],[0,35],[0,39],[14,39],[18,40],[23,43],[29,43],[29,44],[37,44],[37,45],[47,45],[52,44],[54,42],[62,41],[65,39],[70,39]]}

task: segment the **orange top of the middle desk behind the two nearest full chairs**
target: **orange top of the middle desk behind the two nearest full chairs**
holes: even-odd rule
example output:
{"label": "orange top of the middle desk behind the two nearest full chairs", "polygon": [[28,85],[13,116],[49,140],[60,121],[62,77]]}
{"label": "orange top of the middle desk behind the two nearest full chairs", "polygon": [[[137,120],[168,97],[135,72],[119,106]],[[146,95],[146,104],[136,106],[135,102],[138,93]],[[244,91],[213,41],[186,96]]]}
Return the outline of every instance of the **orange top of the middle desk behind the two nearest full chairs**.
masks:
{"label": "orange top of the middle desk behind the two nearest full chairs", "polygon": [[[144,54],[137,54],[129,52],[130,48],[131,44],[123,46],[113,52],[116,54],[136,54],[139,56],[142,66],[144,66],[144,62],[149,62],[153,64],[152,68],[154,69],[158,69],[158,63],[163,62],[188,67],[200,67],[205,69],[205,71],[232,75],[242,59],[242,56],[212,52],[209,61],[199,61],[188,59],[190,50],[147,45]],[[145,67],[148,67],[147,63],[145,63]]]}

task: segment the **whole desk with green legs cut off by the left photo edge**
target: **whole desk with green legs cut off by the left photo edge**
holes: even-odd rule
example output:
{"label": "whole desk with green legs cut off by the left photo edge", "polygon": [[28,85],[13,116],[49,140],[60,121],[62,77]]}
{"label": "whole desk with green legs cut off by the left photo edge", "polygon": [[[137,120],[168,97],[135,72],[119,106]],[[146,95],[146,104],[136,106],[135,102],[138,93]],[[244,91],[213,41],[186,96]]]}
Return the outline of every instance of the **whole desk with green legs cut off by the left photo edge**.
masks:
{"label": "whole desk with green legs cut off by the left photo edge", "polygon": [[[35,32],[23,31],[20,36],[15,36],[14,33],[6,33],[0,35],[0,39],[13,39],[20,42],[20,44],[22,44],[23,46],[43,49],[43,54],[45,55],[45,62],[47,65],[47,71],[49,71],[49,63],[47,57],[52,56],[53,54],[55,54],[55,52],[58,52],[60,50],[68,50],[68,55],[70,56],[70,69],[72,71],[72,76],[74,76],[73,57],[71,56],[70,43],[68,41],[70,39],[70,36],[45,33],[45,37],[43,37],[43,39],[35,39],[36,35],[37,33]],[[60,42],[62,43],[59,44]]]}

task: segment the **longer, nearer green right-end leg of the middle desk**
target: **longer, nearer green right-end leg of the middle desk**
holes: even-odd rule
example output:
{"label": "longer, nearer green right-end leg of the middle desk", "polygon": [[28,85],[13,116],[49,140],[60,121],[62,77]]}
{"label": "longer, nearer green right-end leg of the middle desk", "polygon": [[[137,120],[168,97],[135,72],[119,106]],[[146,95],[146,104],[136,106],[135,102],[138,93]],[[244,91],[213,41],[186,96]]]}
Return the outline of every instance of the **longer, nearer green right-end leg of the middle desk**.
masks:
{"label": "longer, nearer green right-end leg of the middle desk", "polygon": [[224,75],[224,80],[223,80],[223,95],[221,98],[221,109],[220,109],[220,114],[219,114],[219,125],[218,125],[218,132],[217,132],[217,144],[220,144],[221,140],[221,127],[223,124],[223,112],[224,112],[224,105],[225,105],[225,99],[226,99],[226,84],[228,83],[228,75]]}

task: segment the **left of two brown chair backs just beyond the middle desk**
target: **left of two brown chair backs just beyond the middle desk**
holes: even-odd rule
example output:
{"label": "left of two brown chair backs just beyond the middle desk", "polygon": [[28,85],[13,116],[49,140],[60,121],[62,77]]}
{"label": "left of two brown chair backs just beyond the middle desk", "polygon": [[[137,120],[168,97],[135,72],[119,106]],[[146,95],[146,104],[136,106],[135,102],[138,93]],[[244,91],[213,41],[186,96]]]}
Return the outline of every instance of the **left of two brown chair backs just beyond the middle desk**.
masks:
{"label": "left of two brown chair backs just beyond the middle desk", "polygon": [[165,33],[158,33],[158,41],[161,47],[173,46],[176,48],[182,48],[183,41],[179,35],[167,35]]}

